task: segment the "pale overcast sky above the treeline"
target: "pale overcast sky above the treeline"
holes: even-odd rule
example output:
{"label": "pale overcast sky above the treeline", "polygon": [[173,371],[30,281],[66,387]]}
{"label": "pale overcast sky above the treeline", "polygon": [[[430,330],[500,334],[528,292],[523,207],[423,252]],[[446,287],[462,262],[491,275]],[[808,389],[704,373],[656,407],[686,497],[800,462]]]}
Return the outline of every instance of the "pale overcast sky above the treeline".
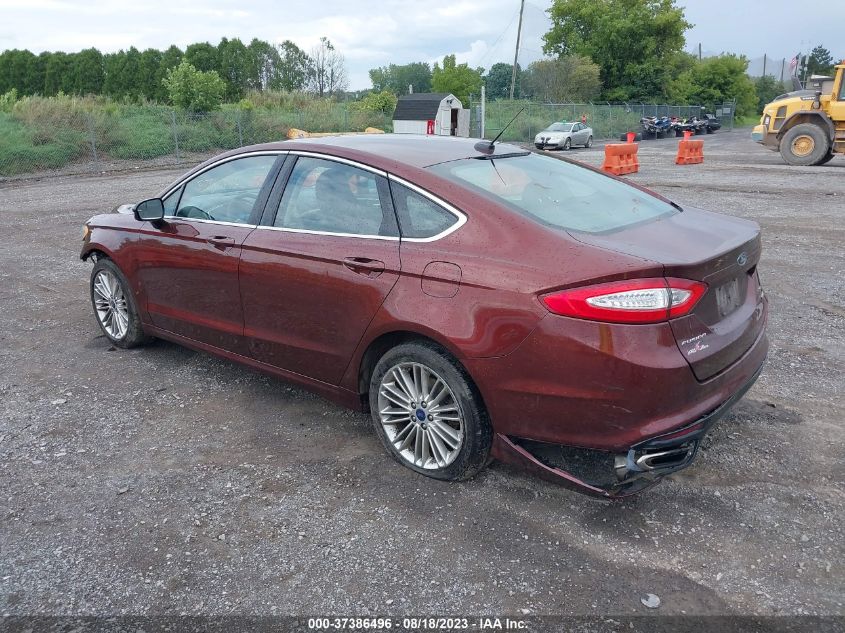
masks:
{"label": "pale overcast sky above the treeline", "polygon": [[[520,63],[542,56],[551,0],[525,3]],[[845,57],[845,0],[680,0],[695,26],[687,50],[792,57],[816,44]],[[802,13],[802,6],[811,10]],[[353,89],[369,88],[367,71],[388,63],[459,62],[489,68],[513,61],[519,0],[0,0],[0,50],[104,52],[135,46],[183,48],[290,39],[306,51],[327,36],[346,56]]]}

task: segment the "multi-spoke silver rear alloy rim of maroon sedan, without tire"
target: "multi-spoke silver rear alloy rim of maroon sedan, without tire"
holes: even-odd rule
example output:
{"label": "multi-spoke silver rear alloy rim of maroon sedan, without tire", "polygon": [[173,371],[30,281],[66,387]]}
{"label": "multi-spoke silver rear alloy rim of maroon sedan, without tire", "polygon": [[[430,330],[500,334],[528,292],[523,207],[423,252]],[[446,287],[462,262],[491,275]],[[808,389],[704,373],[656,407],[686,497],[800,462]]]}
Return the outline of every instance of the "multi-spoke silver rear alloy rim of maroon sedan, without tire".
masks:
{"label": "multi-spoke silver rear alloy rim of maroon sedan, without tire", "polygon": [[455,394],[421,363],[391,367],[378,391],[379,420],[399,456],[418,468],[445,468],[464,443],[464,421]]}

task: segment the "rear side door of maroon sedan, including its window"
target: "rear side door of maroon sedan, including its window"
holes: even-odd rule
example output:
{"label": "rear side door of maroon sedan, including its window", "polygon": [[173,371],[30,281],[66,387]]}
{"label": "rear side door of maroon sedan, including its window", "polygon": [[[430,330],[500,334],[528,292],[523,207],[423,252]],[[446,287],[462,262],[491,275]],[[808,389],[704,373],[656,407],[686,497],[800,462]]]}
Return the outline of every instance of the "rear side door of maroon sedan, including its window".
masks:
{"label": "rear side door of maroon sedan, including its window", "polygon": [[243,244],[248,353],[338,384],[399,277],[399,232],[385,174],[299,155]]}

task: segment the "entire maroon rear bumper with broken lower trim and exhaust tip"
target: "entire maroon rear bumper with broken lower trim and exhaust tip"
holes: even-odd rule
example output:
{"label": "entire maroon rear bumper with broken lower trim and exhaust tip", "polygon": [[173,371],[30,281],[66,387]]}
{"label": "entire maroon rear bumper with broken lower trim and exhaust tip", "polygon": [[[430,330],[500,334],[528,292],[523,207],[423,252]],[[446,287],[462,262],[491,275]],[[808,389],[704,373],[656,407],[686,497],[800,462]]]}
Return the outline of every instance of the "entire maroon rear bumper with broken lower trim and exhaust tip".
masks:
{"label": "entire maroon rear bumper with broken lower trim and exhaust tip", "polygon": [[[567,336],[555,340],[561,329]],[[619,497],[689,466],[701,437],[754,384],[767,352],[764,327],[736,362],[699,381],[668,323],[552,316],[512,354],[468,368],[493,422],[496,458]],[[573,467],[586,462],[595,477]]]}

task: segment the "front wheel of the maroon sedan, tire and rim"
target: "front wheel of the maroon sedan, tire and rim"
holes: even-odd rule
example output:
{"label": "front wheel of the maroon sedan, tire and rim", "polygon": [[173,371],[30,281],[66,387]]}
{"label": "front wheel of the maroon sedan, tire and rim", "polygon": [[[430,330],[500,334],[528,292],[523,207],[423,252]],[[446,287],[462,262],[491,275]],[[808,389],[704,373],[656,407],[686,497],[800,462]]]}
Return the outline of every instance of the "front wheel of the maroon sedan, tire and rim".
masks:
{"label": "front wheel of the maroon sedan, tire and rim", "polygon": [[103,334],[117,347],[128,349],[150,341],[129,282],[110,259],[98,260],[91,271],[91,305]]}

